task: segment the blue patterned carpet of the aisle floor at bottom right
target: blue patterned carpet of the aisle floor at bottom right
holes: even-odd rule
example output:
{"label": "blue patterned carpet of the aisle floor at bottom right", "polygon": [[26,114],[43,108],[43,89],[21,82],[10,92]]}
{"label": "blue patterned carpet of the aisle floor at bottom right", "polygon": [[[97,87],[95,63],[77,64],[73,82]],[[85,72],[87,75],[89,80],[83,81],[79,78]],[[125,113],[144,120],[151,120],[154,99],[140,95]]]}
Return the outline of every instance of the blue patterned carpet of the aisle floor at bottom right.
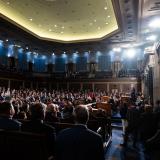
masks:
{"label": "blue patterned carpet of the aisle floor at bottom right", "polygon": [[127,148],[121,147],[120,143],[122,142],[122,131],[113,129],[112,142],[109,148],[106,149],[106,160],[144,160],[143,156],[139,154],[139,149],[135,149],[130,145]]}

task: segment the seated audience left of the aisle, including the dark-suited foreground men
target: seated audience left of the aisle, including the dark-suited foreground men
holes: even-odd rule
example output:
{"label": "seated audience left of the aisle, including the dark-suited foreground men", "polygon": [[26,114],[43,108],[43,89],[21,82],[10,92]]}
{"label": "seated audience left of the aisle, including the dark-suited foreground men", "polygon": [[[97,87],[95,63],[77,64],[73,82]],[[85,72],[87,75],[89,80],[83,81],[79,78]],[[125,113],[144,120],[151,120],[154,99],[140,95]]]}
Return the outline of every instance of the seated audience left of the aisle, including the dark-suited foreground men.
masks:
{"label": "seated audience left of the aisle, including the dark-suited foreground men", "polygon": [[[95,94],[99,94],[99,97]],[[71,160],[81,158],[87,160],[91,156],[93,160],[104,160],[102,137],[88,129],[86,125],[89,119],[107,117],[102,109],[97,110],[96,115],[91,115],[92,103],[103,95],[105,92],[53,91],[51,93],[46,90],[1,88],[0,129],[46,135],[48,157],[54,156],[57,160],[63,160],[66,157]],[[89,103],[91,105],[86,107],[85,104]],[[76,125],[57,134],[56,129],[50,125],[55,122]],[[79,154],[80,146],[86,146],[81,148],[83,154]],[[69,152],[70,149],[75,149],[75,154]],[[92,153],[93,150],[94,153]]]}

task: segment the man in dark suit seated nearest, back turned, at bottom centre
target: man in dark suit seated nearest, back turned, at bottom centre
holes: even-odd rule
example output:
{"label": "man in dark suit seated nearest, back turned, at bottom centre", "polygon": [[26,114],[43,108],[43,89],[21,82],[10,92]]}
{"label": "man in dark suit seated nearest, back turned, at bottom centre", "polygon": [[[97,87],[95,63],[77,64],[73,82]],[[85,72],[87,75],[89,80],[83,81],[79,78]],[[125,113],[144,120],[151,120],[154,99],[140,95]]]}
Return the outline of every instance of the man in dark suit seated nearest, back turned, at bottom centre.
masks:
{"label": "man in dark suit seated nearest, back turned, at bottom centre", "polygon": [[102,137],[86,126],[89,112],[77,106],[73,116],[75,127],[65,129],[56,140],[56,160],[104,160]]}

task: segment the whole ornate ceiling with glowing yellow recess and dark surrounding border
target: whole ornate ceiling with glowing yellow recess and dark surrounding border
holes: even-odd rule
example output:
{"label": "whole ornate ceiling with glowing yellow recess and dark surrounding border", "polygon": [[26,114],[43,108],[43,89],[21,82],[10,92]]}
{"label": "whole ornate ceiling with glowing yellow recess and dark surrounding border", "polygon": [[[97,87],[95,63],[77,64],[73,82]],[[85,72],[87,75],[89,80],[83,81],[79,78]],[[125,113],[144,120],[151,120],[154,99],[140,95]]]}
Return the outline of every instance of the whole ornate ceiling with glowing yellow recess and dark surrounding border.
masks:
{"label": "whole ornate ceiling with glowing yellow recess and dark surrounding border", "polygon": [[[22,8],[26,8],[20,17],[22,19],[25,19],[24,17],[26,17],[25,20],[29,26],[36,26],[36,28],[39,28],[39,32],[44,31],[42,34],[49,34],[49,36],[46,36],[47,38],[42,38],[36,33],[33,33],[33,30],[31,31],[24,28],[25,26],[22,26],[23,24],[13,23],[14,17],[12,17],[13,19],[11,20],[8,19],[6,15],[1,15],[0,39],[10,39],[12,42],[21,45],[23,48],[27,46],[31,51],[48,54],[53,53],[53,51],[57,51],[57,53],[62,53],[63,51],[73,53],[73,51],[77,50],[84,52],[88,50],[106,50],[113,47],[134,47],[146,43],[146,38],[144,38],[146,32],[147,35],[153,32],[153,30],[149,30],[149,21],[153,17],[158,17],[160,15],[159,0],[79,1],[0,0],[0,9],[2,9],[1,4],[10,8],[20,4]],[[41,9],[41,12],[40,9],[37,11],[35,6],[37,2],[39,2],[38,6],[41,8],[43,4],[45,12],[43,9]],[[54,4],[57,7],[54,11],[48,9],[49,11],[47,12],[46,10],[47,8],[50,8],[51,4]],[[63,9],[60,9],[61,7]],[[105,9],[105,7],[107,8]],[[88,11],[87,8],[89,8]],[[22,12],[23,10],[21,7],[18,7],[17,11]],[[92,12],[92,14],[90,12]],[[47,16],[49,13],[54,14],[54,16]],[[63,16],[61,14],[63,14]],[[111,17],[108,17],[109,15]],[[35,17],[37,17],[37,20]],[[80,19],[79,22],[78,17]],[[108,21],[106,21],[106,18]],[[115,28],[115,31],[113,31],[114,29],[111,27],[113,30],[109,33],[109,26],[111,24],[105,23],[113,23],[112,20],[115,22],[115,26],[117,25],[118,29]],[[44,26],[42,26],[42,24]],[[54,25],[56,25],[56,27]],[[100,28],[98,29],[98,27]],[[54,34],[54,30],[58,31],[58,36],[56,38],[54,37],[56,35]],[[104,34],[103,36],[101,35],[103,38],[99,39],[98,35],[102,32]],[[74,34],[77,36],[72,39]],[[65,39],[68,35],[70,35],[70,39]],[[91,35],[94,37],[91,37]],[[52,36],[52,38],[50,36]],[[50,38],[52,39],[51,41]]]}

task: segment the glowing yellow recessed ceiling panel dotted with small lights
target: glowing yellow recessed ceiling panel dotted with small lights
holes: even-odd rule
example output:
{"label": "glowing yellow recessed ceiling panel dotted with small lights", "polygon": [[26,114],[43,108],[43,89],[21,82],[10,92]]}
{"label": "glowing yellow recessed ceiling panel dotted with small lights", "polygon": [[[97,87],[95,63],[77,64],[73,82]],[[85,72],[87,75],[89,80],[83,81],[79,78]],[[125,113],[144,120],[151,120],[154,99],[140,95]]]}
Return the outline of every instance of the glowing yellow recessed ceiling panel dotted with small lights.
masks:
{"label": "glowing yellow recessed ceiling panel dotted with small lights", "polygon": [[0,0],[0,16],[44,40],[93,41],[118,31],[112,0]]}

